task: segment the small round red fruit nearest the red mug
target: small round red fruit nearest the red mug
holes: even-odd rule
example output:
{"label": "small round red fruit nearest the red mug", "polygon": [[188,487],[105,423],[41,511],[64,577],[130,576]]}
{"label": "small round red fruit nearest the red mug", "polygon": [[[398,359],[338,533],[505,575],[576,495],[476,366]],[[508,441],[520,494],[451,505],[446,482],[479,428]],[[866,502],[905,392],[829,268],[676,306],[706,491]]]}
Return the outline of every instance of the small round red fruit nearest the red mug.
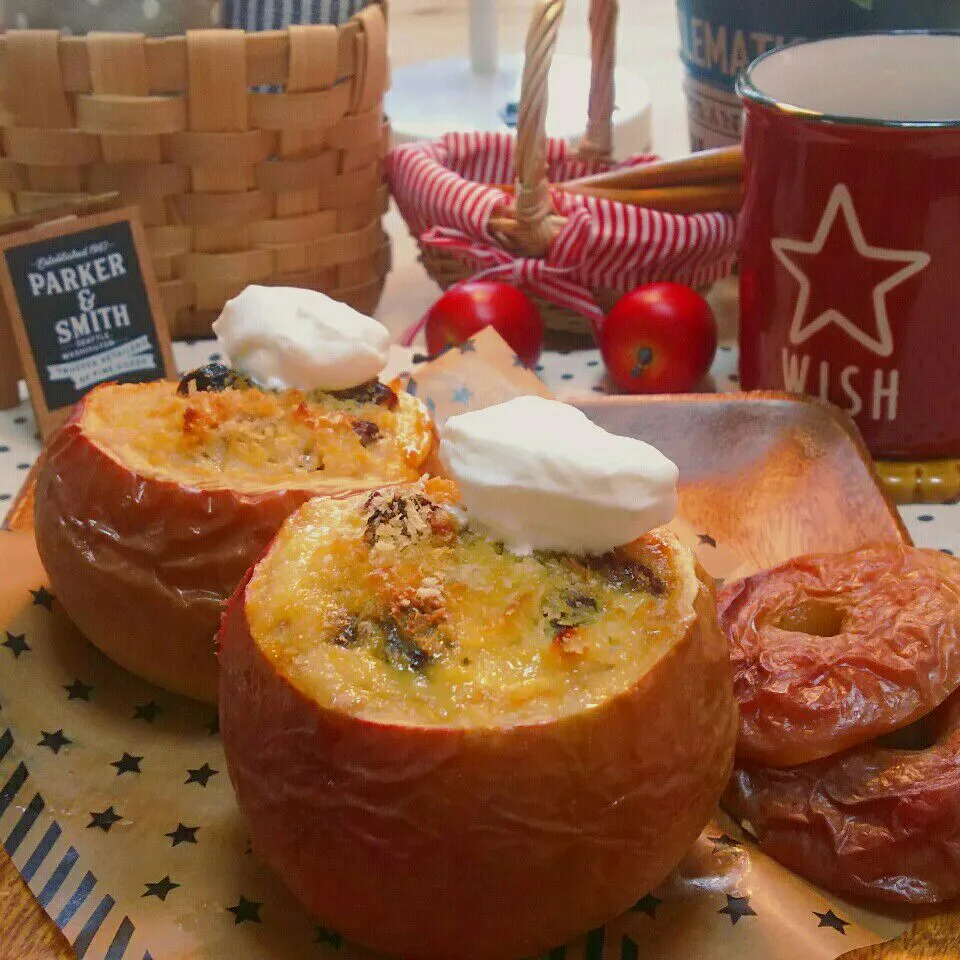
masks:
{"label": "small round red fruit nearest the red mug", "polygon": [[600,327],[600,353],[626,393],[687,393],[717,352],[710,305],[679,283],[650,283],[621,297]]}

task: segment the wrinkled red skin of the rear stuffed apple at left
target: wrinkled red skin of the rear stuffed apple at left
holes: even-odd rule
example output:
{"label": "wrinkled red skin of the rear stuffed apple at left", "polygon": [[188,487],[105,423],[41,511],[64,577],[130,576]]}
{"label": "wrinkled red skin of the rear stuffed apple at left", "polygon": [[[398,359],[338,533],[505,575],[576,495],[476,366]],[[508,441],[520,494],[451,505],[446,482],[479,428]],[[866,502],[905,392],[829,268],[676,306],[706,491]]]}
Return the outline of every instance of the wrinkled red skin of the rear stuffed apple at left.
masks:
{"label": "wrinkled red skin of the rear stuffed apple at left", "polygon": [[86,402],[52,438],[37,474],[34,527],[53,591],[115,663],[215,703],[224,603],[283,521],[318,491],[200,490],[145,478],[84,429]]}

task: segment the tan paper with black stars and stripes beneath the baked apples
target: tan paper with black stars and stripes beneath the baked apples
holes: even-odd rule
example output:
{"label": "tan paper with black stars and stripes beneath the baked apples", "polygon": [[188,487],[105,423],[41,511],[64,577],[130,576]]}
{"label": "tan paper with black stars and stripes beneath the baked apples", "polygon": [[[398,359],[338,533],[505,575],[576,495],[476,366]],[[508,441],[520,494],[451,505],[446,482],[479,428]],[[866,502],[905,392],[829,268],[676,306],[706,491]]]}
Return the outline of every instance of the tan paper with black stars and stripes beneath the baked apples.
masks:
{"label": "tan paper with black stars and stripes beneath the baked apples", "polygon": [[[441,421],[545,394],[492,333],[409,373]],[[682,516],[676,526],[714,575],[740,565]],[[0,533],[0,558],[0,840],[78,953],[370,957],[309,916],[248,852],[213,708],[94,650],[50,598],[31,533]],[[657,890],[549,960],[834,960],[903,926],[823,895],[720,815]]]}

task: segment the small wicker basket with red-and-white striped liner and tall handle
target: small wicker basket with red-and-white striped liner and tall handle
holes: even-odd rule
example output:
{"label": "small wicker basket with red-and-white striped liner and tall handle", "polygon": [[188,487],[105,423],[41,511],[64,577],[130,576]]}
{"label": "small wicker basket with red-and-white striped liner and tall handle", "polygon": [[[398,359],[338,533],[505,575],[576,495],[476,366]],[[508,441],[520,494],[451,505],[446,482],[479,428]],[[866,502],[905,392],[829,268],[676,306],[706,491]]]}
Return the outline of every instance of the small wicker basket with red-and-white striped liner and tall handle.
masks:
{"label": "small wicker basket with red-and-white striped liner and tall handle", "polygon": [[[547,74],[563,8],[564,0],[537,0],[515,138],[450,133],[396,147],[386,159],[391,191],[433,279],[444,289],[471,277],[525,288],[560,347],[588,340],[617,297],[641,283],[704,287],[726,276],[736,230],[727,212],[664,213],[557,186],[613,166],[616,0],[590,4],[589,117],[579,149],[546,136]],[[512,196],[497,186],[514,183]]]}

